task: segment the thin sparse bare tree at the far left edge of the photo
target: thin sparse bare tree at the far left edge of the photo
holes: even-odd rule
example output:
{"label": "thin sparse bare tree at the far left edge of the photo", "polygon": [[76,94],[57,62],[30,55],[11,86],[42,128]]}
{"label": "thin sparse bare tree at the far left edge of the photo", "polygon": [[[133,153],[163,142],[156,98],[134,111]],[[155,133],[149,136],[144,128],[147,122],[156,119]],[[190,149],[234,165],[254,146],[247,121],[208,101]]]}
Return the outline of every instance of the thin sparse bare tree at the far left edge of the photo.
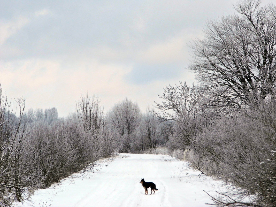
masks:
{"label": "thin sparse bare tree at the far left edge of the photo", "polygon": [[[25,100],[12,101],[2,94],[0,85],[0,205],[21,201],[28,189],[26,163],[23,159],[25,140],[29,136],[23,124]],[[17,115],[15,115],[17,114]]]}

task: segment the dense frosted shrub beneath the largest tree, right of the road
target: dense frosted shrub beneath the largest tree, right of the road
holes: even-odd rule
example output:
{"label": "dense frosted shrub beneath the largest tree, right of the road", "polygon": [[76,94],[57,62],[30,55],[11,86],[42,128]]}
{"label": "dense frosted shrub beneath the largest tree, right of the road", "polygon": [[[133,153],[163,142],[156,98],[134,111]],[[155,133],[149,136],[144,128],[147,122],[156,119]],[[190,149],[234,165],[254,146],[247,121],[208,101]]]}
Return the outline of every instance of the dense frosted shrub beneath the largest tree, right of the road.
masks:
{"label": "dense frosted shrub beneath the largest tree, right of the road", "polygon": [[[253,199],[252,206],[276,205],[275,108],[274,101],[267,101],[245,116],[216,119],[193,139],[193,166],[220,177],[238,194],[238,201],[229,200],[227,206],[249,206],[242,201],[246,197]],[[235,193],[226,197],[235,198]]]}

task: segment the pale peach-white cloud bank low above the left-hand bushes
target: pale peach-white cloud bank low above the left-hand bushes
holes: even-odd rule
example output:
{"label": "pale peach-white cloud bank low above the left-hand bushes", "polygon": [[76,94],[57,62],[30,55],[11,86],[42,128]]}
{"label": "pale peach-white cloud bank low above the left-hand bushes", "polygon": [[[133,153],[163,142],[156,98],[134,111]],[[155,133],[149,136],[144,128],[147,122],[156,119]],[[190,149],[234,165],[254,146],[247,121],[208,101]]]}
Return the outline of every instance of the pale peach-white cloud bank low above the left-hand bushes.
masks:
{"label": "pale peach-white cloud bank low above the left-hand bushes", "polygon": [[57,107],[60,116],[67,116],[82,92],[98,95],[107,108],[132,94],[123,80],[130,70],[93,59],[67,64],[46,59],[1,61],[0,83],[9,98],[24,97],[26,109]]}

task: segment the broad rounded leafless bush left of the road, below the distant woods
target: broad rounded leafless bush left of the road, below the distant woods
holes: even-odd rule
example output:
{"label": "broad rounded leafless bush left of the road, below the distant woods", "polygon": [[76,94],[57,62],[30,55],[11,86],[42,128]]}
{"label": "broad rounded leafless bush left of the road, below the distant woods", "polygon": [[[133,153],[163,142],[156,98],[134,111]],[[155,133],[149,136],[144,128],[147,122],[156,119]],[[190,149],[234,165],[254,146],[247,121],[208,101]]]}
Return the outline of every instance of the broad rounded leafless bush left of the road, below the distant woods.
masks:
{"label": "broad rounded leafless bush left of the road, below the distant woods", "polygon": [[28,140],[33,171],[42,187],[69,176],[95,161],[91,140],[74,123],[37,122]]}

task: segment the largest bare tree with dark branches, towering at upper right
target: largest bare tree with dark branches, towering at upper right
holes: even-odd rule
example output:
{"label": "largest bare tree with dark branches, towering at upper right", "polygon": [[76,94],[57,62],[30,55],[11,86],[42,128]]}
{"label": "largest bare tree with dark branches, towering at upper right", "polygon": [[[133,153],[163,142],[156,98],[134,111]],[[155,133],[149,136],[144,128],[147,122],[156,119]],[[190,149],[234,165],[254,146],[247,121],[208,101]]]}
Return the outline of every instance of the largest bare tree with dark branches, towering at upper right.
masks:
{"label": "largest bare tree with dark branches, towering at upper right", "polygon": [[260,0],[241,1],[238,14],[208,21],[205,39],[192,48],[202,88],[212,99],[209,107],[242,108],[253,99],[275,99],[276,9]]}

